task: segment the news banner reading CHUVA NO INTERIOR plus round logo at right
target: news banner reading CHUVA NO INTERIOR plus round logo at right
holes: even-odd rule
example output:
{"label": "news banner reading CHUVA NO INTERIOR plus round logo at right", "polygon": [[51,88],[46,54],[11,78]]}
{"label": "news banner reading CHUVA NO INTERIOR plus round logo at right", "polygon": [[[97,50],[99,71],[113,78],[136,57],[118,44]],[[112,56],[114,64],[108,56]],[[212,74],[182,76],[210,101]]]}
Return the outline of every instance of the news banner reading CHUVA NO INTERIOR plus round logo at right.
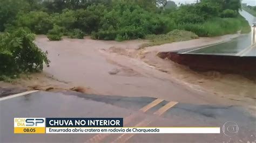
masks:
{"label": "news banner reading CHUVA NO INTERIOR plus round logo at right", "polygon": [[[124,127],[123,121],[123,118],[14,118],[14,133],[220,133],[220,127]],[[238,126],[227,122],[223,132],[231,137],[238,133]]]}

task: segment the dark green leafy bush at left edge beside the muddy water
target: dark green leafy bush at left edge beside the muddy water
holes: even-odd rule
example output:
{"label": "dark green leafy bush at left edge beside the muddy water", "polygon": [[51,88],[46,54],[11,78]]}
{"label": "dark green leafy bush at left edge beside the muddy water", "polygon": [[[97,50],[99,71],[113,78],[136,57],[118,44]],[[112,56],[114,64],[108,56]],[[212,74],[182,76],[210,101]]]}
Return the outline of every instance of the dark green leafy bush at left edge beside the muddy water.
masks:
{"label": "dark green leafy bush at left edge beside the muddy water", "polygon": [[49,66],[50,61],[46,53],[42,52],[33,40],[35,35],[22,29],[0,34],[1,77],[15,77],[23,72],[42,71],[43,63]]}

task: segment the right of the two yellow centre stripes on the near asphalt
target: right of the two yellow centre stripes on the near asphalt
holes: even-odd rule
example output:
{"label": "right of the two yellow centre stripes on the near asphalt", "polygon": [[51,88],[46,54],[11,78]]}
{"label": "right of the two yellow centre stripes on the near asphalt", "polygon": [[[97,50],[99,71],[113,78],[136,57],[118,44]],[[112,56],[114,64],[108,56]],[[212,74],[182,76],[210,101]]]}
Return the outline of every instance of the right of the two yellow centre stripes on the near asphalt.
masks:
{"label": "right of the two yellow centre stripes on the near asphalt", "polygon": [[[172,108],[174,105],[176,105],[178,102],[169,102],[166,105],[164,105],[163,107],[161,107],[160,109],[158,109],[156,112],[153,113],[153,115],[158,115],[161,116],[163,115],[164,112],[166,112],[167,110],[169,110],[170,108]],[[145,127],[147,125],[149,125],[150,123],[152,123],[153,120],[150,119],[144,119],[143,121],[140,121],[140,123],[138,123],[137,125],[135,125],[136,127]],[[113,142],[126,142],[127,140],[129,140],[130,138],[132,138],[135,134],[122,134],[120,135],[116,140],[114,140]]]}

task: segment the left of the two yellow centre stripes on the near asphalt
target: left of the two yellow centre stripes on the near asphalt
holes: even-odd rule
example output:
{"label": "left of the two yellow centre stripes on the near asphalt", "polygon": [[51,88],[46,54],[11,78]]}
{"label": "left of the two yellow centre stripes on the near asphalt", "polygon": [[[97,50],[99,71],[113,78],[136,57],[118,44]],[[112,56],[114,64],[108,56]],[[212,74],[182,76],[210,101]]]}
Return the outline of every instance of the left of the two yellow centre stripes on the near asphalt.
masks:
{"label": "left of the two yellow centre stripes on the near asphalt", "polygon": [[[139,111],[142,111],[142,112],[149,111],[151,108],[153,108],[154,106],[156,106],[157,104],[159,104],[163,101],[164,101],[163,99],[155,99],[153,102],[151,102],[150,104],[147,104],[146,106],[141,108]],[[133,114],[133,115],[130,115],[130,116],[124,118],[124,125],[131,123],[131,121],[134,118],[136,118],[136,116],[137,116],[136,114]],[[100,142],[109,135],[110,134],[97,134],[94,137],[92,137],[91,139],[87,140],[86,142]]]}

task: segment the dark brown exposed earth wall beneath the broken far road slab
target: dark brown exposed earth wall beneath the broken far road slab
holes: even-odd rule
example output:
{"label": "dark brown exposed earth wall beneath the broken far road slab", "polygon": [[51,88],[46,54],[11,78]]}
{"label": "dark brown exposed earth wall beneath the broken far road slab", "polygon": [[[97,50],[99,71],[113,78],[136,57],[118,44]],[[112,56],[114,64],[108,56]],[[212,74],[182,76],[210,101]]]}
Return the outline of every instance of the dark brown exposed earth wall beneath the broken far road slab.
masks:
{"label": "dark brown exposed earth wall beneath the broken far road slab", "polygon": [[256,79],[256,57],[253,56],[197,55],[177,52],[159,52],[157,55],[161,59],[169,59],[197,71],[217,70]]}

